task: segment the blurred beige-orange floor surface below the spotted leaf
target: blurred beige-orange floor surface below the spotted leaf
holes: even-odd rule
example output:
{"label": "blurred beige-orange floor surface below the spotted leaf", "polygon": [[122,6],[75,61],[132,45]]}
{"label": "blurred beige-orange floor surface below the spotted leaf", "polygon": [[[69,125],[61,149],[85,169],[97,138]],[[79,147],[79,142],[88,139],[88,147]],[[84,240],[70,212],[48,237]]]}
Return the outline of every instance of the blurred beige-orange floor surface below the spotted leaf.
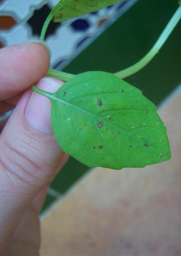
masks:
{"label": "blurred beige-orange floor surface below the spotted leaf", "polygon": [[171,160],[93,169],[42,220],[41,255],[181,255],[181,94],[158,112]]}

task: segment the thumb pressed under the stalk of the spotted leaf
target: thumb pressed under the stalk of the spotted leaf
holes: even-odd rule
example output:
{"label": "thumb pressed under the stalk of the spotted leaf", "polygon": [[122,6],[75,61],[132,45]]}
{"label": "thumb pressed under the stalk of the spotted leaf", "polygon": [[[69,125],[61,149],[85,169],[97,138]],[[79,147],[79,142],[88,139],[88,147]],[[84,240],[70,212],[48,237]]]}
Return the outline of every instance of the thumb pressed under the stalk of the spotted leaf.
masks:
{"label": "thumb pressed under the stalk of the spotted leaf", "polygon": [[[62,84],[45,77],[38,87],[56,92]],[[0,135],[0,248],[63,158],[52,134],[50,112],[50,101],[29,89]]]}

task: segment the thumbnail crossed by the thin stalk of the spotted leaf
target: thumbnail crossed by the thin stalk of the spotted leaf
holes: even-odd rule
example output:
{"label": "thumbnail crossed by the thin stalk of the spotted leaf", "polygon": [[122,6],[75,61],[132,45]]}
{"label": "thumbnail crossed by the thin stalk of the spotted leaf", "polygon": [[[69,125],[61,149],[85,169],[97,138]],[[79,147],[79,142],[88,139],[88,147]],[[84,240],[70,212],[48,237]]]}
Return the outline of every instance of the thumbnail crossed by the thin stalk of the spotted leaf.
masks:
{"label": "thumbnail crossed by the thin stalk of the spotted leaf", "polygon": [[[61,85],[61,82],[45,77],[38,82],[37,87],[46,92],[55,93]],[[33,92],[25,110],[25,117],[35,129],[48,133],[52,132],[51,102],[46,97]]]}

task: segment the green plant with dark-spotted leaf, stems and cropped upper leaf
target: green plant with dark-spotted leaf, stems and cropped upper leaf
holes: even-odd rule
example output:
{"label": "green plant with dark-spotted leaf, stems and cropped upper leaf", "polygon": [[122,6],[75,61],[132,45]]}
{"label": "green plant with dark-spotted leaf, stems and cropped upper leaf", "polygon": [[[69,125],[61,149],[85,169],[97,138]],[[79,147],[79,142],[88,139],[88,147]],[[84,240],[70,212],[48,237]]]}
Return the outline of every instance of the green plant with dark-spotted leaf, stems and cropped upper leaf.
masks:
{"label": "green plant with dark-spotted leaf, stems and cropped upper leaf", "polygon": [[[61,0],[48,24],[97,11],[118,0]],[[180,1],[179,1],[180,4]],[[50,69],[47,75],[66,83],[56,92],[32,89],[52,103],[52,129],[61,148],[89,167],[145,167],[170,159],[166,127],[156,106],[122,79],[142,69],[156,55],[181,18],[177,9],[157,42],[133,66],[115,74],[91,71],[78,75]],[[60,125],[61,124],[61,129]]]}

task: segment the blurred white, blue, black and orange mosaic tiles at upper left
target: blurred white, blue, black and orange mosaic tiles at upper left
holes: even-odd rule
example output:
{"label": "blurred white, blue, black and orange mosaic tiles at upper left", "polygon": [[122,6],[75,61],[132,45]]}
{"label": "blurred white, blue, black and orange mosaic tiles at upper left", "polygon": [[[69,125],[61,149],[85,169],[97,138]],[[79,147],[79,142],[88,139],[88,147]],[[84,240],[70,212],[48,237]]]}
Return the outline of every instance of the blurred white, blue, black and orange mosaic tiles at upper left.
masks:
{"label": "blurred white, blue, black and orange mosaic tiles at upper left", "polygon": [[[121,0],[113,6],[63,23],[51,23],[46,42],[52,51],[52,67],[61,69],[137,0]],[[42,25],[58,0],[4,0],[0,3],[0,45],[37,40]]]}

